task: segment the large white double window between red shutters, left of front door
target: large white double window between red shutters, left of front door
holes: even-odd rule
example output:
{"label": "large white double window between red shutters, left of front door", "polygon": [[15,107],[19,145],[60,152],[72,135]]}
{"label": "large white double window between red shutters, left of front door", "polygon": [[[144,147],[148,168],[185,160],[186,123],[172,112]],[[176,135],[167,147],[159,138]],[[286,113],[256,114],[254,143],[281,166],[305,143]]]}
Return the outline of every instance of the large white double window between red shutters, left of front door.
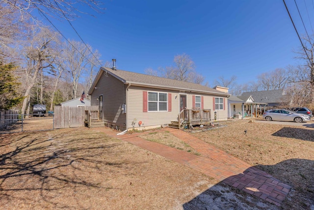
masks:
{"label": "large white double window between red shutters, left of front door", "polygon": [[167,111],[168,93],[148,92],[148,111]]}

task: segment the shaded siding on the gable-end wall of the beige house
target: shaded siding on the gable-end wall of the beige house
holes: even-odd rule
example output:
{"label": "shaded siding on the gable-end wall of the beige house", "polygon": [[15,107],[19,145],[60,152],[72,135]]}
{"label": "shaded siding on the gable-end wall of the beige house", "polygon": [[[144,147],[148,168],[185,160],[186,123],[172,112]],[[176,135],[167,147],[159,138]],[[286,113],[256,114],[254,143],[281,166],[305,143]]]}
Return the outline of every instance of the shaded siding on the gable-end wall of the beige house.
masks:
{"label": "shaded siding on the gable-end wall of the beige house", "polygon": [[99,95],[103,95],[104,121],[112,125],[125,128],[126,114],[122,114],[121,108],[125,103],[125,85],[122,81],[111,75],[102,74],[93,90],[91,104],[99,106]]}

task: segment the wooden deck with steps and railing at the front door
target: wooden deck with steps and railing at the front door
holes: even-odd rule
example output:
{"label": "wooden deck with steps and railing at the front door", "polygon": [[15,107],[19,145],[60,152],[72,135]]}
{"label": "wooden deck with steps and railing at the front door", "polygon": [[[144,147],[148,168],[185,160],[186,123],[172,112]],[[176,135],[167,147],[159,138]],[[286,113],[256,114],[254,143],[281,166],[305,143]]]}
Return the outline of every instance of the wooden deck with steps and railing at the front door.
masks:
{"label": "wooden deck with steps and railing at the front door", "polygon": [[211,122],[210,114],[210,109],[183,109],[178,115],[178,120],[171,121],[169,127],[182,129],[190,128],[192,125],[201,125]]}

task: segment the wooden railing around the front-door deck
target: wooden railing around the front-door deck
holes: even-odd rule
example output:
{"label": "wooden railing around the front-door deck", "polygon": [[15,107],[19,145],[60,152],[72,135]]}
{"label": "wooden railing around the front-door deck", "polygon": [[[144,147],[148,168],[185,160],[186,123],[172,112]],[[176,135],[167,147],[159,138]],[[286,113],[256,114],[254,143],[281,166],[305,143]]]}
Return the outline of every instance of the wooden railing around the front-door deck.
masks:
{"label": "wooden railing around the front-door deck", "polygon": [[183,109],[178,115],[179,128],[181,129],[183,123],[190,126],[190,124],[197,124],[198,122],[208,122],[211,120],[210,116],[210,109]]}

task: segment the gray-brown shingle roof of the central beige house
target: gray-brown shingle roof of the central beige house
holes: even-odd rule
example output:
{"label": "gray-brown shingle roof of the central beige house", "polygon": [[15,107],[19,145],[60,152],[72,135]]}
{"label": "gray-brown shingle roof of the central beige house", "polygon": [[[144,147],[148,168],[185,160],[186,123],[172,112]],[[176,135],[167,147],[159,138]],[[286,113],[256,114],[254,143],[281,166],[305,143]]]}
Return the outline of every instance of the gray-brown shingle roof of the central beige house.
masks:
{"label": "gray-brown shingle roof of the central beige house", "polygon": [[[229,95],[228,93],[215,90],[203,85],[189,83],[189,82],[182,82],[178,80],[172,80],[157,76],[151,76],[146,74],[140,74],[130,71],[124,70],[113,70],[112,68],[102,67],[98,75],[101,75],[103,72],[107,72],[108,74],[113,75],[114,77],[120,79],[124,83],[131,83],[131,85],[137,86],[151,86],[151,87],[159,87],[164,89],[177,89],[177,90],[188,90],[188,91],[198,91],[198,92],[206,92],[206,93],[213,93],[219,95]],[[96,85],[100,76],[96,77],[95,82],[93,85]],[[92,87],[93,89],[93,87]],[[91,89],[91,90],[92,90]]]}

